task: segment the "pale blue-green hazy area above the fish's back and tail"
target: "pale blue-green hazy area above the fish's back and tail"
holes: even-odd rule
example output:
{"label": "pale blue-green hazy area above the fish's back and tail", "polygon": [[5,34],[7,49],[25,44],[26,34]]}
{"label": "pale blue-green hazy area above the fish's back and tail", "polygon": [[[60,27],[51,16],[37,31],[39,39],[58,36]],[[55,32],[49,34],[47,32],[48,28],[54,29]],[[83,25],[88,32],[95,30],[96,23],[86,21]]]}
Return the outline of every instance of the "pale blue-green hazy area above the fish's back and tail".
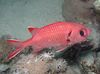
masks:
{"label": "pale blue-green hazy area above the fish's back and tail", "polygon": [[0,0],[0,36],[30,37],[27,27],[63,21],[63,0]]}

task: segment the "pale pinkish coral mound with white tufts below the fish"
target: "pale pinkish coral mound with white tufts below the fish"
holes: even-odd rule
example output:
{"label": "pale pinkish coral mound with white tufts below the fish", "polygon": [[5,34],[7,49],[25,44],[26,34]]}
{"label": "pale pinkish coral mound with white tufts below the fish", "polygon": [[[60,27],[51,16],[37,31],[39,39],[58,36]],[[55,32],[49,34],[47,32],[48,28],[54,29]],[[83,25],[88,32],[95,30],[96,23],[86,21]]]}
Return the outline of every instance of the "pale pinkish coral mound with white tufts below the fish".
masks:
{"label": "pale pinkish coral mound with white tufts below the fish", "polygon": [[29,54],[11,67],[10,74],[58,74],[66,69],[67,63],[64,59],[53,59],[48,53],[38,56]]}

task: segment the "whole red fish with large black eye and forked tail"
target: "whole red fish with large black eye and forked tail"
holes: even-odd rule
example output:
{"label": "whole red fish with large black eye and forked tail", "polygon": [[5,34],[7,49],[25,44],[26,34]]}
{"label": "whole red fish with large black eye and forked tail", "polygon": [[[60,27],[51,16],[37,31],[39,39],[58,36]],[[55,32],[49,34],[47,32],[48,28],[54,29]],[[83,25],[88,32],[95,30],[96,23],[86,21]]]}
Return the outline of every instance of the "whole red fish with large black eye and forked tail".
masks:
{"label": "whole red fish with large black eye and forked tail", "polygon": [[28,30],[32,34],[30,39],[25,41],[8,40],[9,43],[17,46],[16,50],[8,55],[8,60],[27,46],[32,46],[36,53],[43,48],[51,47],[57,51],[63,51],[68,45],[86,41],[91,33],[90,29],[76,22],[56,22],[41,28],[28,27]]}

